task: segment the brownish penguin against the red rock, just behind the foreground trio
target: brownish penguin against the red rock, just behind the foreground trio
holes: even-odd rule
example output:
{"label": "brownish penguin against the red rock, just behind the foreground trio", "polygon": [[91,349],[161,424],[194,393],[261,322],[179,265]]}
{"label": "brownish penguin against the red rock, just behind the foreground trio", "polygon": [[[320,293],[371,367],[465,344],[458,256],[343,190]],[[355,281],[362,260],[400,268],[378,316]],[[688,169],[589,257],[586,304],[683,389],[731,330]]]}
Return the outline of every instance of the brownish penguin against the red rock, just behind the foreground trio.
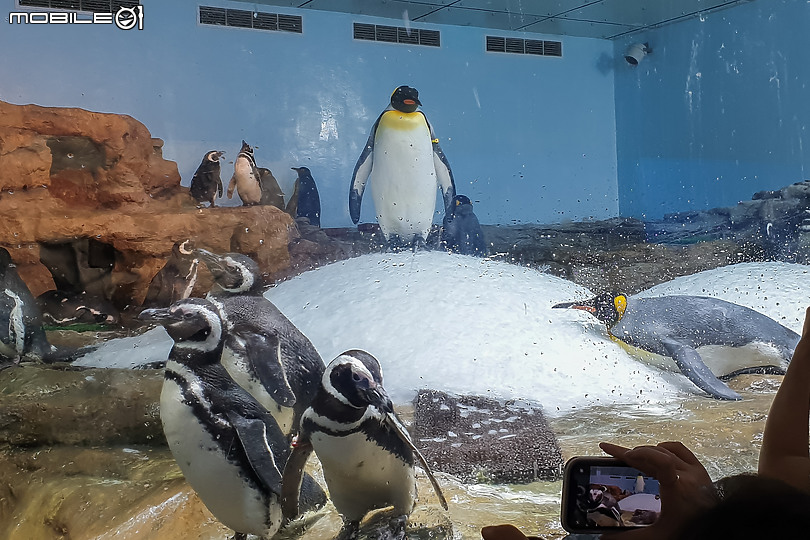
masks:
{"label": "brownish penguin against the red rock, just behind the foreground trio", "polygon": [[149,282],[142,307],[168,307],[191,296],[197,284],[199,264],[191,240],[175,242],[166,264]]}

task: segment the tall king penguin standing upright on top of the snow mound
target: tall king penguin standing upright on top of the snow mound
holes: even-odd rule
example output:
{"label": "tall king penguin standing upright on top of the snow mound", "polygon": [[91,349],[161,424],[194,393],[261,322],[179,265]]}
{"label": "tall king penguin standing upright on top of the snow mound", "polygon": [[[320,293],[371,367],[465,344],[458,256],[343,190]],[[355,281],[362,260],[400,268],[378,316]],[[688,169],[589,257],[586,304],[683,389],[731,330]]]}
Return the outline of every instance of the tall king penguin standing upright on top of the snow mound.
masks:
{"label": "tall king penguin standing upright on top of the snow mound", "polygon": [[444,208],[456,194],[450,164],[410,86],[400,86],[391,104],[377,118],[368,142],[354,167],[349,188],[349,213],[360,220],[360,203],[366,181],[377,222],[389,246],[424,244],[433,223],[436,186],[442,190]]}

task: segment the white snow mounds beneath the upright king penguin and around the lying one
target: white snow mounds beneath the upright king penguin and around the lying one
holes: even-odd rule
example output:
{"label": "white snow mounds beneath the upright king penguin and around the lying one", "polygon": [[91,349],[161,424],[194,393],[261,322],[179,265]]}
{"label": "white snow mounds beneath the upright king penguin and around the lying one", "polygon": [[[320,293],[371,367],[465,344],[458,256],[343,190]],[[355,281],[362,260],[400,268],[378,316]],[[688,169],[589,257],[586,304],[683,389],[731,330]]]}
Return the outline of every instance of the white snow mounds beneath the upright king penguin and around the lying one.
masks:
{"label": "white snow mounds beneath the upright king penguin and around the lying one", "polygon": [[[747,263],[677,278],[640,296],[712,296],[801,332],[809,267]],[[266,293],[328,363],[364,349],[383,367],[395,403],[421,388],[542,404],[548,414],[591,405],[665,406],[692,383],[630,356],[604,325],[551,309],[593,296],[573,282],[504,262],[443,252],[372,254],[337,262]],[[132,367],[165,360],[158,328],[112,340],[79,365]]]}

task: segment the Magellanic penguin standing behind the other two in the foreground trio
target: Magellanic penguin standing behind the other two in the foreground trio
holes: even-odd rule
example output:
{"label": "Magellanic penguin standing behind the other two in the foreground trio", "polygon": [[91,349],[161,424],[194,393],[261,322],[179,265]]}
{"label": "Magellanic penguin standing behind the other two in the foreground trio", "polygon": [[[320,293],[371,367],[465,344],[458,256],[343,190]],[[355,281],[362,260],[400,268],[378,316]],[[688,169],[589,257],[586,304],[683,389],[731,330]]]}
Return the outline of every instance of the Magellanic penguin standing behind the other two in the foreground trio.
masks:
{"label": "Magellanic penguin standing behind the other two in the foreground trio", "polygon": [[226,340],[222,365],[231,377],[293,434],[312,402],[324,365],[318,351],[278,308],[262,295],[259,267],[239,253],[196,252],[211,270],[217,304],[228,328],[249,330]]}

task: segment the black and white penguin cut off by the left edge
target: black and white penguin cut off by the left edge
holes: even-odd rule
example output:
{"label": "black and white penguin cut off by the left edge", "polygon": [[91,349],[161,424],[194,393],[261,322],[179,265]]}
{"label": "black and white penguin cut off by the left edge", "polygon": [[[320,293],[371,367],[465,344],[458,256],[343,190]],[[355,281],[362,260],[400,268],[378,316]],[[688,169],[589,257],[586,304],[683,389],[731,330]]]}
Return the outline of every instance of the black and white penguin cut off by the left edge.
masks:
{"label": "black and white penguin cut off by the left edge", "polygon": [[42,329],[42,313],[34,295],[17,274],[11,254],[0,247],[0,365],[23,358],[52,361],[57,350]]}

